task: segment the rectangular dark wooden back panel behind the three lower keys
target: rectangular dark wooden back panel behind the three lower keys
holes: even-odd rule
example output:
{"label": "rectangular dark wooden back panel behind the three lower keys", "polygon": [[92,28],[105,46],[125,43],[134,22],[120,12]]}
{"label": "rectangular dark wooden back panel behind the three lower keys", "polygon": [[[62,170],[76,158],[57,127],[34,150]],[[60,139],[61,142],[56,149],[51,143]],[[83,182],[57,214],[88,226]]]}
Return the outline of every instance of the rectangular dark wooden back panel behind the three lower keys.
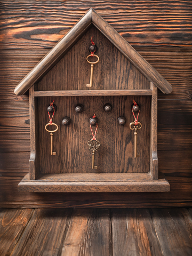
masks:
{"label": "rectangular dark wooden back panel behind the three lower keys", "polygon": [[[50,134],[44,127],[49,122],[46,108],[53,99],[58,108],[53,122],[59,126],[59,130],[53,134],[53,150],[56,155],[51,156]],[[129,127],[130,122],[134,120],[131,111],[132,96],[97,99],[95,97],[39,98],[41,111],[39,111],[38,137],[41,173],[149,172],[150,97],[135,96],[134,100],[142,106],[139,120],[145,125],[143,126],[145,129],[142,127],[138,132],[140,157],[136,159],[133,157],[134,135]],[[75,112],[77,103],[84,105],[82,113]],[[110,113],[103,110],[105,103],[111,103],[113,106]],[[95,165],[98,165],[98,169],[91,169],[91,151],[87,146],[87,141],[92,139],[89,118],[93,113],[99,119],[97,139],[101,142],[101,146],[95,153]],[[122,115],[127,119],[124,126],[117,123],[117,118]],[[71,118],[70,125],[61,124],[64,116]],[[93,126],[92,129],[95,130]],[[59,141],[61,143],[58,143]],[[46,161],[45,156],[47,156]]]}

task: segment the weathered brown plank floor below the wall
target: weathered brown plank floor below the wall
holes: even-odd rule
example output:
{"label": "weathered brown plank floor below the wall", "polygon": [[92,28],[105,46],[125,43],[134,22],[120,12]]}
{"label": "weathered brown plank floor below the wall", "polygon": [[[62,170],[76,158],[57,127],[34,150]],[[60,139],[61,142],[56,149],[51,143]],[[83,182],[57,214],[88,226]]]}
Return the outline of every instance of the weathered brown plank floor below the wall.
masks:
{"label": "weathered brown plank floor below the wall", "polygon": [[0,209],[0,255],[192,255],[192,209]]}

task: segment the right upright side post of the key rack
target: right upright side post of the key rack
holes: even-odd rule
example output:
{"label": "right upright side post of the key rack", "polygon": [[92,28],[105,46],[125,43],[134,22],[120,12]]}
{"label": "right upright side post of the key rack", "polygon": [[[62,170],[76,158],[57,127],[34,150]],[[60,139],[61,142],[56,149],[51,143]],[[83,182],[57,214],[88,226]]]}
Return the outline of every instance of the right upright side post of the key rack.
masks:
{"label": "right upright side post of the key rack", "polygon": [[158,179],[157,157],[157,87],[151,82],[151,118],[150,118],[150,174],[154,180]]}

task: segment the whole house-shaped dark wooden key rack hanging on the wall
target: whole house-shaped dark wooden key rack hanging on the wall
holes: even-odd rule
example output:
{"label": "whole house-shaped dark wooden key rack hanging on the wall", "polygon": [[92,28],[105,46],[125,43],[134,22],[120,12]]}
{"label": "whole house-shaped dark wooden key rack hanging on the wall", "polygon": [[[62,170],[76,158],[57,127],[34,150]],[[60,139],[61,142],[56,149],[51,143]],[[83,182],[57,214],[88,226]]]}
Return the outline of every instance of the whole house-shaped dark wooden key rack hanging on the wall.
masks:
{"label": "whole house-shaped dark wooden key rack hanging on the wall", "polygon": [[[97,62],[94,68],[86,59],[91,37],[99,57],[98,62],[96,57],[88,59]],[[169,191],[169,183],[158,173],[157,87],[163,93],[172,91],[171,85],[90,9],[15,87],[17,95],[29,90],[30,108],[29,174],[19,183],[19,191]],[[58,130],[50,140],[45,125],[49,123],[47,107],[53,100],[57,111],[52,121]],[[140,108],[140,130],[134,123],[133,100]],[[136,106],[135,118],[137,111]],[[97,127],[94,122],[98,123],[96,138],[100,142],[95,153],[87,145]],[[57,126],[47,125],[47,129]]]}

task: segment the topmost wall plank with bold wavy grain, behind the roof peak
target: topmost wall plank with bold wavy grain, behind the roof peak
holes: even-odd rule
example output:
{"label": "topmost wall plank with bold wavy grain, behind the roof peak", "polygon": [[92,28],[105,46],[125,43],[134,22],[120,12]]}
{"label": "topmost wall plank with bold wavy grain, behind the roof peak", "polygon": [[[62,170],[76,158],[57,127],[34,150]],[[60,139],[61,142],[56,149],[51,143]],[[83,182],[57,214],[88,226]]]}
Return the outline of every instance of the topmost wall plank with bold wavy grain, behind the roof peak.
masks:
{"label": "topmost wall plank with bold wavy grain, behind the roof peak", "polygon": [[1,5],[2,49],[52,47],[91,7],[132,45],[191,45],[190,1],[4,0]]}

